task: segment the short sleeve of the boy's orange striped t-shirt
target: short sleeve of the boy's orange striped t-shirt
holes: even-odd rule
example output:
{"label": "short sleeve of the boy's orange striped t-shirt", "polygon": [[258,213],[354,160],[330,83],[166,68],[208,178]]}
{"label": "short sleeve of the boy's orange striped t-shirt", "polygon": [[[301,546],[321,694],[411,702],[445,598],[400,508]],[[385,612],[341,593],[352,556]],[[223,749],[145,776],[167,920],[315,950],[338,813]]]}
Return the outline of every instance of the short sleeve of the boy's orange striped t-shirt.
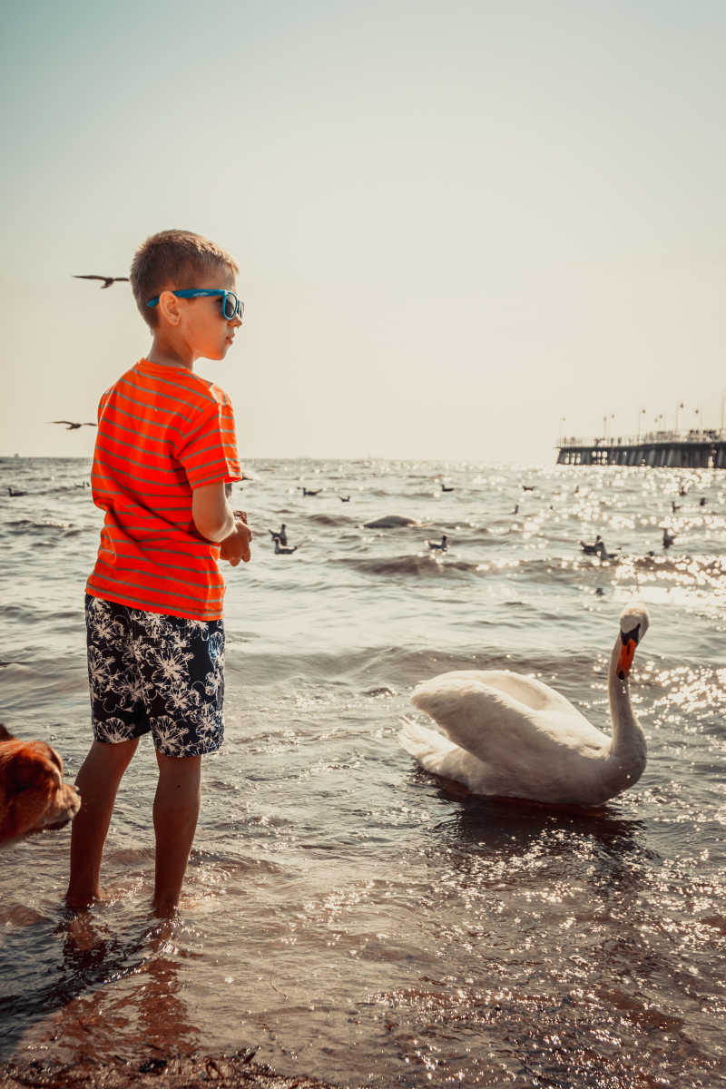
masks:
{"label": "short sleeve of the boy's orange striped t-shirt", "polygon": [[190,488],[238,480],[242,476],[229,399],[200,409],[176,451]]}

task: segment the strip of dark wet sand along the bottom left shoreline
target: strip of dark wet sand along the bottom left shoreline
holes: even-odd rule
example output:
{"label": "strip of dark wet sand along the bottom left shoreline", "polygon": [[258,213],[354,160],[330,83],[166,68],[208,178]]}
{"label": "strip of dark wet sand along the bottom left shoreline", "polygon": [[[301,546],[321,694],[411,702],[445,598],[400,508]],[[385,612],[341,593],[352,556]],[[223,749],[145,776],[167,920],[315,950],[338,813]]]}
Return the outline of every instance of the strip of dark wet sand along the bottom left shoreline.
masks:
{"label": "strip of dark wet sand along the bottom left shoreline", "polygon": [[0,1067],[0,1089],[47,1086],[49,1089],[183,1089],[193,1086],[246,1086],[249,1089],[335,1089],[329,1081],[304,1076],[281,1077],[253,1062],[254,1051],[229,1055],[169,1055],[131,1062],[84,1060],[57,1063],[7,1063]]}

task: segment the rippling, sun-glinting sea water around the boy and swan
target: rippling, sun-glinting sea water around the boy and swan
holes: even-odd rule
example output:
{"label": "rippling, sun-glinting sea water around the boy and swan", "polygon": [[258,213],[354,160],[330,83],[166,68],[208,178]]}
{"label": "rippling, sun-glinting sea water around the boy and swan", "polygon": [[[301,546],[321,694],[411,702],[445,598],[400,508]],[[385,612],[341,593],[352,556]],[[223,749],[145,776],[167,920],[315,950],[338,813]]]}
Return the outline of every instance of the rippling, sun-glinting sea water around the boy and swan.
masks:
{"label": "rippling, sun-glinting sea water around the boy and swan", "polygon": [[[347,1085],[725,1085],[726,476],[247,468],[234,501],[254,560],[229,570],[226,739],[206,758],[181,917],[149,914],[145,742],[107,903],[60,909],[67,829],[0,856],[0,1057],[256,1047]],[[87,472],[0,462],[26,491],[0,497],[0,721],[53,744],[69,778],[89,743]],[[420,525],[365,527],[384,515]],[[272,553],[281,522],[290,556]],[[619,562],[583,556],[596,533]],[[633,597],[651,616],[631,680],[649,762],[603,811],[465,797],[399,748],[413,685],[472,666],[534,673],[607,729]]]}

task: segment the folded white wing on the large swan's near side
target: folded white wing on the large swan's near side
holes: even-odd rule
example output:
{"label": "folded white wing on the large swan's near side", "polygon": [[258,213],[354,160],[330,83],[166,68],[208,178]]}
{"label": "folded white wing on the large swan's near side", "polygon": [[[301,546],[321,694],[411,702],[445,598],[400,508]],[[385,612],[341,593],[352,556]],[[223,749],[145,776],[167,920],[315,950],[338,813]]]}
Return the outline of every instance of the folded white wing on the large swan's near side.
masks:
{"label": "folded white wing on the large swan's near side", "polygon": [[[491,673],[491,671],[487,671]],[[480,680],[478,671],[445,673],[418,685],[411,695],[415,707],[426,711],[446,735],[484,763],[502,772],[533,772],[539,763],[549,767],[567,764],[578,758],[602,757],[610,738],[591,725],[564,697],[540,682],[508,674],[507,685],[516,688],[513,678],[526,682],[520,694],[532,696],[531,685],[540,706],[532,708],[502,688]],[[497,680],[501,680],[501,675]]]}

